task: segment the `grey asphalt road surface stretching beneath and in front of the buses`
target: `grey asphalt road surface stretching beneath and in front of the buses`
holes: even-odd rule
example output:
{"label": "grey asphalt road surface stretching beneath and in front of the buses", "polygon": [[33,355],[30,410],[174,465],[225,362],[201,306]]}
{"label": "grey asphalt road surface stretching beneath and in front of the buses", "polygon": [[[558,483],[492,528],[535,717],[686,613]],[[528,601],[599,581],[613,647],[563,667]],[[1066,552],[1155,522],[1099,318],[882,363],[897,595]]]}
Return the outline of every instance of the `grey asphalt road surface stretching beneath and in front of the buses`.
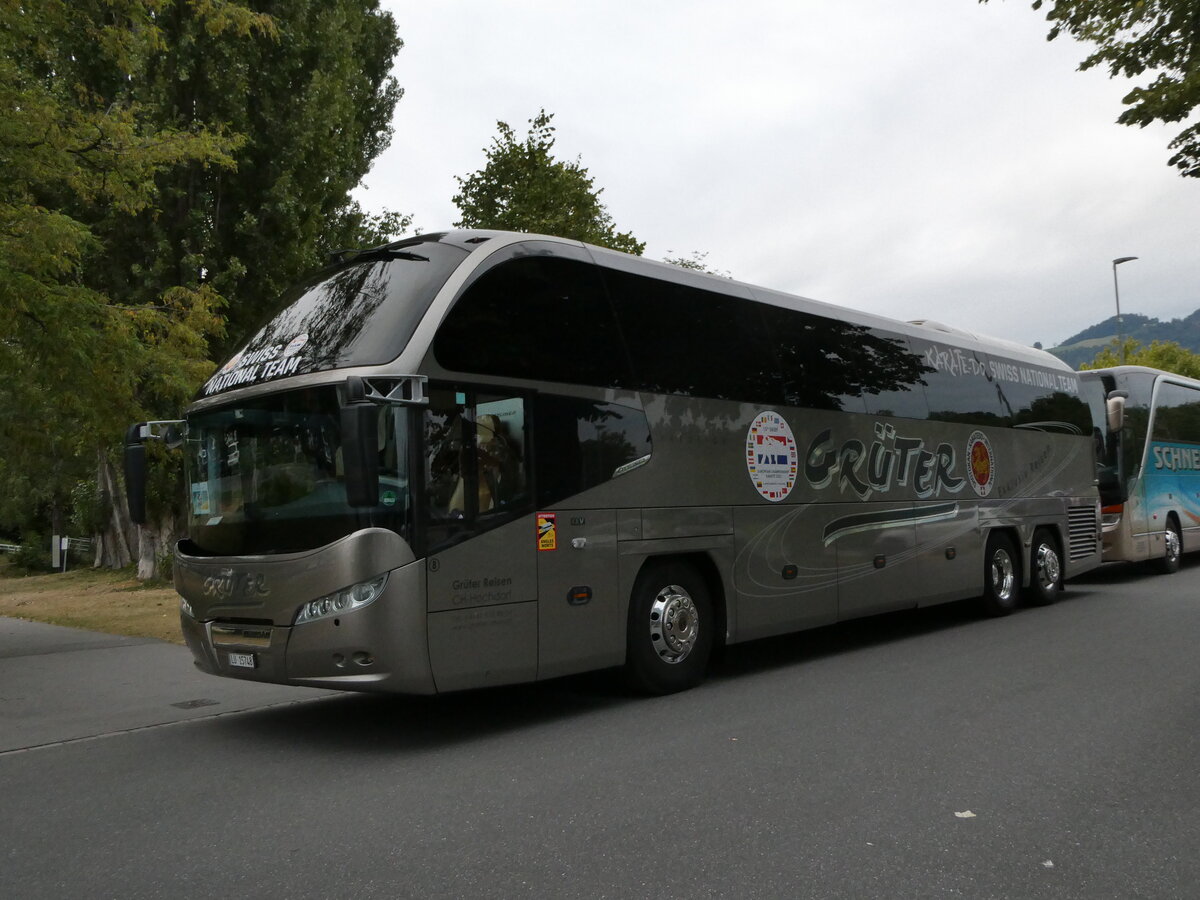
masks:
{"label": "grey asphalt road surface stretching beneath and in front of the buses", "polygon": [[320,695],[31,628],[0,619],[5,898],[1200,896],[1200,560],[654,700]]}

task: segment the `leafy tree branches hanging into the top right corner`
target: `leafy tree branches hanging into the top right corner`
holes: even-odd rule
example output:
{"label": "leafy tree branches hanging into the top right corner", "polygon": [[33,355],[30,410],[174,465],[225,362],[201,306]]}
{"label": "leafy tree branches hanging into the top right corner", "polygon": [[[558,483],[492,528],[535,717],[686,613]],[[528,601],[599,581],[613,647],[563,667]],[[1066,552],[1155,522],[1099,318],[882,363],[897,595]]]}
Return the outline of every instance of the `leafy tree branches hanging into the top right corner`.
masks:
{"label": "leafy tree branches hanging into the top right corner", "polygon": [[[980,0],[988,2],[988,0]],[[1104,66],[1110,77],[1151,80],[1134,88],[1117,121],[1145,127],[1182,122],[1200,104],[1200,10],[1195,0],[1033,0],[1048,6],[1048,40],[1066,32],[1096,46],[1080,70]],[[1200,122],[1192,122],[1170,143],[1168,161],[1183,175],[1200,176]]]}

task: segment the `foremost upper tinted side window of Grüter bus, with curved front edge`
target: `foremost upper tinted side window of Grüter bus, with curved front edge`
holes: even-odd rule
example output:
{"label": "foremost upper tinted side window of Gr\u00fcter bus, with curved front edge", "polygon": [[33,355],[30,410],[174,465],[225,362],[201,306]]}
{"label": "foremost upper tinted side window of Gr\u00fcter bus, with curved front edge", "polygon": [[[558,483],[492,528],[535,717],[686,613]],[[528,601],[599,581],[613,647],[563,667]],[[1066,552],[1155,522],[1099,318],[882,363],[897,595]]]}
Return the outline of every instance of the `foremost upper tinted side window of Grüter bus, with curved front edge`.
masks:
{"label": "foremost upper tinted side window of Gr\u00fcter bus, with curved front edge", "polygon": [[458,372],[601,388],[631,382],[599,270],[560,257],[518,257],[484,272],[442,323],[433,353]]}

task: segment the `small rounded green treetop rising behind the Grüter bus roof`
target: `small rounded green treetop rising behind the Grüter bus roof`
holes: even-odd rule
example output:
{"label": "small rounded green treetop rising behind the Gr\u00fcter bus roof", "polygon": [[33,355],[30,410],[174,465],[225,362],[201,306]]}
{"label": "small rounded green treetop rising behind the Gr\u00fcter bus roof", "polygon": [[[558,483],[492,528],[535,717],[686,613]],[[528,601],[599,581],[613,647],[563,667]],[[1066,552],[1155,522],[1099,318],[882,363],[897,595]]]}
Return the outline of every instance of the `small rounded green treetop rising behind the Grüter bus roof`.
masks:
{"label": "small rounded green treetop rising behind the Gr\u00fcter bus roof", "polygon": [[542,109],[529,120],[529,134],[518,143],[506,122],[484,148],[487,163],[456,178],[454,204],[458,228],[496,228],[552,234],[641,256],[646,244],[618,232],[594,179],[580,163],[556,160],[553,114]]}

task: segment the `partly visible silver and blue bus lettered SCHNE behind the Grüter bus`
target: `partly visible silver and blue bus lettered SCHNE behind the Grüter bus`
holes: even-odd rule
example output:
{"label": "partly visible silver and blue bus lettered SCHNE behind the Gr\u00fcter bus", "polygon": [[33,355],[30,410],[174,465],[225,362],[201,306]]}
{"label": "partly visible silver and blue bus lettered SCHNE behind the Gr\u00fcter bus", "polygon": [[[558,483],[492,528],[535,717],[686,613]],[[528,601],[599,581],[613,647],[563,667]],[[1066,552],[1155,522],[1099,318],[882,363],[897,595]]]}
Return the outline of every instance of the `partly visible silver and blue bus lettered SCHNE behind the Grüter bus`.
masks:
{"label": "partly visible silver and blue bus lettered SCHNE behind the Gr\u00fcter bus", "polygon": [[1093,410],[1104,562],[1178,571],[1200,550],[1200,382],[1144,366],[1079,374]]}

